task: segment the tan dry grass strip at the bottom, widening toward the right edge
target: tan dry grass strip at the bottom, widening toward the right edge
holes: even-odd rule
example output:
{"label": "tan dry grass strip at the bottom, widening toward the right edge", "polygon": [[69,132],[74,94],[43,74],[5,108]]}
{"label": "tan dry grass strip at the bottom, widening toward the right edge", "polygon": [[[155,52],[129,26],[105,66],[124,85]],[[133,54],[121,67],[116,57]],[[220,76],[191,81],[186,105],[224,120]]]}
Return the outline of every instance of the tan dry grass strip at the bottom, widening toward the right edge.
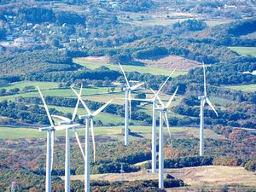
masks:
{"label": "tan dry grass strip at the bottom, widening toward the right edge", "polygon": [[[241,186],[256,189],[256,175],[254,172],[247,172],[244,167],[240,166],[195,166],[176,169],[165,169],[166,174],[169,173],[173,177],[179,178],[184,183],[193,186]],[[84,180],[83,175],[76,175],[71,177],[72,180]],[[64,179],[64,177],[62,177]],[[151,173],[148,170],[140,172],[124,173],[106,173],[96,174],[90,176],[91,180],[108,180],[108,181],[135,181],[135,180],[149,180],[158,179],[158,172]]]}

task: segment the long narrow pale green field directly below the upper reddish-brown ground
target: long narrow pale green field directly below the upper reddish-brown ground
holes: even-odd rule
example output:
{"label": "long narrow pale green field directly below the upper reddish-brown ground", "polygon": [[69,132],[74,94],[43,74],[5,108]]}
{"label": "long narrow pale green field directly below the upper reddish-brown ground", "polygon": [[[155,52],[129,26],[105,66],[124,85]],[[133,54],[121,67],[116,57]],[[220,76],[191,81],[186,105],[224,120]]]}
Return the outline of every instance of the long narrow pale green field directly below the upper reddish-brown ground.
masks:
{"label": "long narrow pale green field directly below the upper reddish-brown ground", "polygon": [[[106,61],[96,61],[96,60],[88,60],[86,58],[75,58],[73,59],[75,63],[82,65],[84,67],[88,67],[90,69],[96,69],[101,66],[106,66],[112,70],[120,70],[118,65],[108,64]],[[151,73],[154,75],[170,75],[172,70],[166,70],[163,68],[157,67],[147,67],[147,66],[132,66],[132,65],[123,65],[122,66],[125,72],[138,72],[138,73]],[[173,77],[177,77],[178,75],[186,74],[187,72],[176,71],[173,73]]]}

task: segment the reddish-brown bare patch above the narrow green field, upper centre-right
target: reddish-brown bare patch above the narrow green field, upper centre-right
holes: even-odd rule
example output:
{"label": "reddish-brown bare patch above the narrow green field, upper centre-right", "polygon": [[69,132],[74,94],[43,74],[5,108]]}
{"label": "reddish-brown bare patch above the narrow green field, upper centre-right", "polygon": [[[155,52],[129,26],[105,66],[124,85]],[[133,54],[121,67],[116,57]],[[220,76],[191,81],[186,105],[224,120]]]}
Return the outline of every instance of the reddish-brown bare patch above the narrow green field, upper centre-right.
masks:
{"label": "reddish-brown bare patch above the narrow green field, upper centre-right", "polygon": [[182,56],[168,55],[161,58],[152,58],[151,60],[138,60],[145,63],[147,66],[168,68],[177,68],[177,71],[189,71],[189,69],[200,67],[201,63],[186,59]]}

